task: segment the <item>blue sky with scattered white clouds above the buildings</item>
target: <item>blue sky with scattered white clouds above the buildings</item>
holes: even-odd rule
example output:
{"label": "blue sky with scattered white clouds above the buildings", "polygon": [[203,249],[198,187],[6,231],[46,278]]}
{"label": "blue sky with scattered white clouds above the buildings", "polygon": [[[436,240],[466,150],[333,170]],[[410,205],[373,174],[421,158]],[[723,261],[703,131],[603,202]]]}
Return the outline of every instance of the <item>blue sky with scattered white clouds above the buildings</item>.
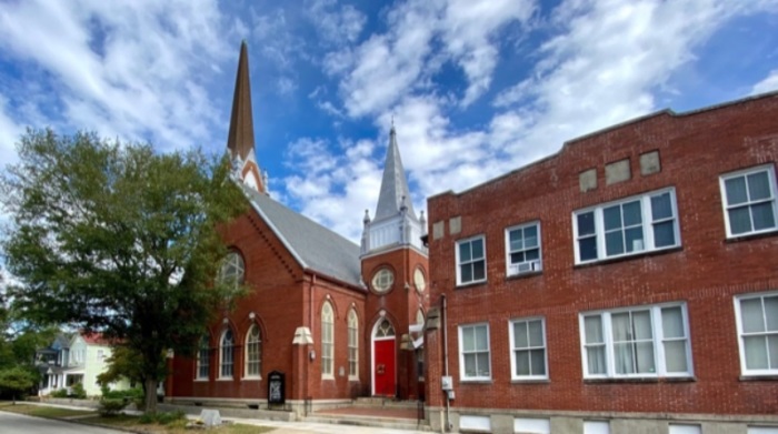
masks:
{"label": "blue sky with scattered white clouds above the buildings", "polygon": [[358,242],[393,121],[413,206],[658,110],[778,90],[778,0],[0,0],[26,129],[226,150],[240,43],[271,195]]}

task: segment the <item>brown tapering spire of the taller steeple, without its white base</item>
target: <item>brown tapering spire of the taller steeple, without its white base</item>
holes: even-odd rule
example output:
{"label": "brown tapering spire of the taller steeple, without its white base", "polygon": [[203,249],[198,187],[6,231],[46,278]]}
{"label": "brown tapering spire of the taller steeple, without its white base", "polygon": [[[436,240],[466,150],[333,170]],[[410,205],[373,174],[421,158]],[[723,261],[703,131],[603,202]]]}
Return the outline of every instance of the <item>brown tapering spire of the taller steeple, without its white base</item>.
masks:
{"label": "brown tapering spire of the taller steeple, without its white base", "polygon": [[246,41],[240,44],[238,73],[235,79],[235,95],[232,97],[232,115],[230,132],[227,135],[227,148],[232,157],[242,161],[253,150],[253,119],[251,114],[251,83],[249,82],[249,50]]}

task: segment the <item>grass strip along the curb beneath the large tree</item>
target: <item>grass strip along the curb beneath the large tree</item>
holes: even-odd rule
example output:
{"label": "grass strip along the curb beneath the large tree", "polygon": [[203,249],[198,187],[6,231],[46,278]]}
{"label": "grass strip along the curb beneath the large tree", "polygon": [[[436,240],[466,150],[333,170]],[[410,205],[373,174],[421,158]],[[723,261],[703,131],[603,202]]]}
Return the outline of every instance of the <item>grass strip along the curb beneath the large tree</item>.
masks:
{"label": "grass strip along the curb beneath the large tree", "polygon": [[[71,418],[72,416],[78,417],[77,422],[83,422],[92,425],[103,425],[108,427],[122,427],[130,428],[134,432],[150,433],[150,434],[161,434],[161,433],[192,433],[199,432],[194,430],[187,430],[186,420],[174,421],[167,425],[160,424],[141,424],[140,416],[129,416],[129,415],[117,415],[117,416],[100,416],[94,411],[79,411],[70,408],[59,408],[59,407],[48,407],[38,406],[30,404],[13,404],[11,402],[0,402],[0,411],[9,413],[20,413],[27,414],[29,416],[47,417],[47,418]],[[242,425],[242,424],[226,424],[219,426],[218,428],[208,430],[208,433],[220,433],[220,434],[261,434],[269,433],[273,428],[268,426],[253,426],[253,425]]]}

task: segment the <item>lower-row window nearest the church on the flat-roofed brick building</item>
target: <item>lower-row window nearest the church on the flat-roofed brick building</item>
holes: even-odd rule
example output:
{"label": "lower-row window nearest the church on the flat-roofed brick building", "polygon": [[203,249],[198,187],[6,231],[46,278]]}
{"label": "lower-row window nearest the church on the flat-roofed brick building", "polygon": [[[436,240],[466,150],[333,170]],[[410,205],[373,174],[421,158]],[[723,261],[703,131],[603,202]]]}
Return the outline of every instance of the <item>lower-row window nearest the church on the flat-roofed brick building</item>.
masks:
{"label": "lower-row window nearest the church on the flat-roofed brick building", "polygon": [[462,381],[491,380],[489,324],[459,326],[459,366]]}

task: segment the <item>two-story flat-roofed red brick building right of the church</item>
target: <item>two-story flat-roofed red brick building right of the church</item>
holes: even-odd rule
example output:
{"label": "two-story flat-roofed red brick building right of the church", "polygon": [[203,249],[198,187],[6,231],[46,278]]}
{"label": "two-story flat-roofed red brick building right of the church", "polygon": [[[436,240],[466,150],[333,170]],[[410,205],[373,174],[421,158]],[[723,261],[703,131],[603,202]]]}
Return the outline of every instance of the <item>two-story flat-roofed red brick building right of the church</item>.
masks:
{"label": "two-story flat-roofed red brick building right of the church", "polygon": [[776,161],[770,93],[430,198],[432,427],[778,433]]}

